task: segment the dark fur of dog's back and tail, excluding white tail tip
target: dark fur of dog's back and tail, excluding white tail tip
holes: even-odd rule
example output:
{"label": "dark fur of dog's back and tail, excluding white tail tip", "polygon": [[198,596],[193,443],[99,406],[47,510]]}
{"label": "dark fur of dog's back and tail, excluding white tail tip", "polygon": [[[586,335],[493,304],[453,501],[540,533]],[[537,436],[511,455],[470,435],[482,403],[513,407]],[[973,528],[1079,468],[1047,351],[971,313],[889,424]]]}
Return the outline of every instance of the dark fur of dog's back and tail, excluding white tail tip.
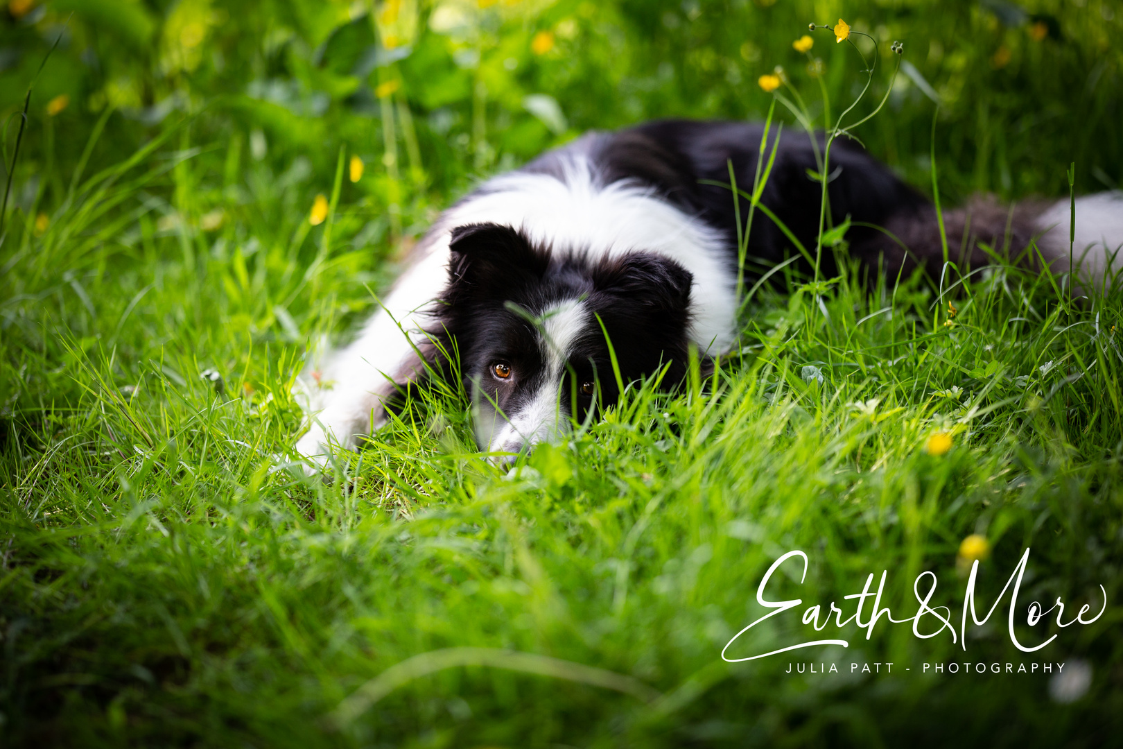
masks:
{"label": "dark fur of dog's back and tail, excluding white tail tip", "polygon": [[[818,171],[814,149],[804,133],[784,133],[777,128],[768,136],[761,168],[773,147],[776,159],[761,202],[814,253],[819,232],[821,186],[809,175]],[[764,126],[748,122],[657,120],[613,134],[586,136],[570,148],[585,152],[601,170],[605,183],[631,179],[655,188],[666,200],[721,230],[728,238],[730,263],[736,264],[736,211],[729,185],[732,163],[737,186],[752,191]],[[825,148],[816,135],[820,153]],[[528,165],[530,171],[550,171],[553,155]],[[839,225],[847,217],[852,225],[847,234],[850,255],[868,268],[883,264],[888,273],[911,272],[923,265],[935,277],[943,262],[939,223],[931,202],[897,177],[856,141],[837,139],[828,168],[830,222]],[[749,214],[749,201],[739,198],[742,225]],[[976,200],[966,209],[944,216],[951,252],[949,259],[979,264],[987,261],[979,243],[986,243],[1010,256],[1017,256],[1033,235],[1032,209],[1007,211],[993,200]],[[887,229],[896,237],[869,226]],[[907,249],[902,247],[902,244]],[[776,223],[757,212],[749,236],[748,255],[774,264],[796,253]],[[807,264],[801,262],[806,271]],[[838,272],[832,252],[822,255],[822,271]]]}

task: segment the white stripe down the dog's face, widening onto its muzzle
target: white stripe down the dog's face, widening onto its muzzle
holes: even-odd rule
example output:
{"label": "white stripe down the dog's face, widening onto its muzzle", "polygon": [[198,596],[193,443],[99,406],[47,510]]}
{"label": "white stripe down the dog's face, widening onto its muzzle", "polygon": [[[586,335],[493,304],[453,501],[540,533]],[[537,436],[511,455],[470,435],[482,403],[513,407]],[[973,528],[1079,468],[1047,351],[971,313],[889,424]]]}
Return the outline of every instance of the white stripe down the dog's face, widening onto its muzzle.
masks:
{"label": "white stripe down the dog's face, widening onto its muzzle", "polygon": [[566,363],[575,344],[593,332],[594,318],[584,302],[570,300],[547,309],[538,331],[538,345],[545,363],[541,384],[530,401],[513,413],[508,423],[495,431],[491,441],[494,450],[518,450],[524,445],[549,441],[566,430],[568,412],[560,407],[558,394]]}

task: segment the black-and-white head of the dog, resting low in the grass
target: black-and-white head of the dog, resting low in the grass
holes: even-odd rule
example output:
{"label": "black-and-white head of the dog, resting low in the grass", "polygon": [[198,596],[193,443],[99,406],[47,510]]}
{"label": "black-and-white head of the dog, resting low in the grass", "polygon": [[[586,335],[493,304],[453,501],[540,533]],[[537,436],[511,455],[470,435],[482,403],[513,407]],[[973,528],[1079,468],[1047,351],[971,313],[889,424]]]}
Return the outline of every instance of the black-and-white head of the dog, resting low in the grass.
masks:
{"label": "black-and-white head of the dog, resting low in the grass", "polygon": [[645,252],[592,261],[495,223],[454,229],[449,248],[437,314],[455,340],[482,448],[519,453],[614,403],[613,354],[624,384],[664,366],[665,382],[683,378],[692,277],[674,261]]}

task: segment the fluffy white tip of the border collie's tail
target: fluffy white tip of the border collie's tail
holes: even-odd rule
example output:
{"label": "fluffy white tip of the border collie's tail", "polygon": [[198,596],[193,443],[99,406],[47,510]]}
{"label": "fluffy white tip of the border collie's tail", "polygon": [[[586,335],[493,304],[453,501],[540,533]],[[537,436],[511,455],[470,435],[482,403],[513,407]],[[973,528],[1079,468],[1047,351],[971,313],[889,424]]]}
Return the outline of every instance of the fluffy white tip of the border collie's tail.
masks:
{"label": "fluffy white tip of the border collie's tail", "polygon": [[[1053,271],[1068,268],[1068,238],[1072,209],[1067,200],[1053,203],[1038,219],[1044,231],[1041,246],[1049,255],[1058,257]],[[1076,238],[1072,241],[1074,262],[1080,276],[1097,284],[1104,272],[1123,268],[1123,191],[1101,192],[1076,201]],[[1111,264],[1111,265],[1108,265]]]}

